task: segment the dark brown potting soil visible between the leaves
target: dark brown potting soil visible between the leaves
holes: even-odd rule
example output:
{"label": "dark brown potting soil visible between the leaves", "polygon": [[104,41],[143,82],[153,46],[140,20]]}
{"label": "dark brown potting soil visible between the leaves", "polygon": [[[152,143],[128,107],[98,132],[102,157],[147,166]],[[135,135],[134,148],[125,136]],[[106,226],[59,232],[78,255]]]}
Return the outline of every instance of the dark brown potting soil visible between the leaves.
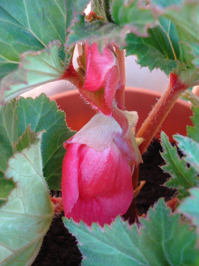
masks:
{"label": "dark brown potting soil visible between the leaves", "polygon": [[[146,180],[146,183],[136,198],[136,206],[140,214],[146,213],[160,197],[168,201],[175,193],[174,189],[162,186],[169,175],[163,173],[159,167],[164,165],[159,152],[161,149],[160,143],[155,141],[142,157],[144,163],[139,168],[139,180]],[[78,266],[81,263],[81,253],[76,244],[75,237],[64,227],[61,216],[54,218],[32,265]]]}

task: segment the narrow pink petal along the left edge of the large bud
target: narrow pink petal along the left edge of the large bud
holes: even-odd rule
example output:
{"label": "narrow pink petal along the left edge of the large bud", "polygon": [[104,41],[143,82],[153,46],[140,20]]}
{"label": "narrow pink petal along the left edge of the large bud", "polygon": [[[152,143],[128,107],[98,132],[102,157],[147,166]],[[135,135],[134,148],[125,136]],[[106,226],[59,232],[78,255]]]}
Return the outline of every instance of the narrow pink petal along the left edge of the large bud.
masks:
{"label": "narrow pink petal along the left edge of the large bud", "polygon": [[62,200],[65,216],[71,212],[79,197],[78,189],[78,150],[80,144],[71,144],[62,165]]}

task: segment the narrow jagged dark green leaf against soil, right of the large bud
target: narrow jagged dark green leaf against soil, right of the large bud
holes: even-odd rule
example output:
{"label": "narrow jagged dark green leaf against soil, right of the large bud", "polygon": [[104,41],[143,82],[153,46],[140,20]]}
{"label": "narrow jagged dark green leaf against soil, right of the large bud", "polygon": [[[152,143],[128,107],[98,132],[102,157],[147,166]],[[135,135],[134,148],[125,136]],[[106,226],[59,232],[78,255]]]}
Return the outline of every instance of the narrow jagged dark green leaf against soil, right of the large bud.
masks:
{"label": "narrow jagged dark green leaf against soil, right of the large bud", "polygon": [[171,179],[165,182],[168,187],[177,188],[178,198],[182,199],[188,196],[187,188],[197,185],[194,168],[188,168],[184,160],[179,159],[176,146],[172,147],[164,132],[161,133],[161,145],[164,152],[161,153],[166,165],[162,166],[162,170],[171,175]]}

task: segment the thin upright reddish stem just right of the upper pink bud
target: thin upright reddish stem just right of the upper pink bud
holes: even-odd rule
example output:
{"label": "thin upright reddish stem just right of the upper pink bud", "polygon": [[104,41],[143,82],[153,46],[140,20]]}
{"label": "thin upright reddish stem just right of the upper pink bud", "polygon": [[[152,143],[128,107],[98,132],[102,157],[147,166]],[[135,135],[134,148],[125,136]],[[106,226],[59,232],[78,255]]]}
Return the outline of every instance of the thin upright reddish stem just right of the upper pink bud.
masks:
{"label": "thin upright reddish stem just right of the upper pink bud", "polygon": [[124,110],[124,89],[126,83],[125,76],[125,54],[124,50],[120,50],[119,47],[115,46],[115,52],[118,59],[118,66],[120,69],[120,80],[115,94],[115,99],[119,109]]}

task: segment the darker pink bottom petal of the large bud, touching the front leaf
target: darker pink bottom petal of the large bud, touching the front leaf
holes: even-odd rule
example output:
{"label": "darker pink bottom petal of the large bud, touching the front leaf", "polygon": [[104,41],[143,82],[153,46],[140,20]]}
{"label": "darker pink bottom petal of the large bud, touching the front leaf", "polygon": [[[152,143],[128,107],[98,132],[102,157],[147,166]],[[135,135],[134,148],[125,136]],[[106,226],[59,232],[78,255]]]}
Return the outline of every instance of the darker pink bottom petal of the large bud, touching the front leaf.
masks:
{"label": "darker pink bottom petal of the large bud, touching the front leaf", "polygon": [[91,225],[92,222],[98,222],[101,226],[105,223],[110,224],[115,217],[107,216],[98,204],[95,198],[89,200],[82,199],[81,196],[74,205],[72,211],[66,215],[68,218],[72,217],[74,221],[79,222],[82,220]]}

